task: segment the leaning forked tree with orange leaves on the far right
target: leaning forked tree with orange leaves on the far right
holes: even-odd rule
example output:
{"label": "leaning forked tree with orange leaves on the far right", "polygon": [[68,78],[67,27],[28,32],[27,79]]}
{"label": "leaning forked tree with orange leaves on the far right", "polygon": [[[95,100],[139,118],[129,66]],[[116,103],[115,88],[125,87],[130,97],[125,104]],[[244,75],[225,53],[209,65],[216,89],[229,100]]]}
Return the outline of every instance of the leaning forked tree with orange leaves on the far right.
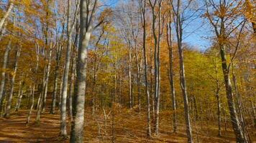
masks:
{"label": "leaning forked tree with orange leaves on the far right", "polygon": [[[226,55],[226,50],[227,50],[226,46],[229,42],[230,34],[232,34],[234,30],[238,29],[239,26],[241,26],[239,30],[239,36],[240,36],[245,24],[245,21],[242,20],[242,21],[238,21],[239,24],[237,26],[228,27],[230,24],[232,24],[234,21],[237,20],[236,14],[238,14],[239,4],[241,4],[241,1],[232,2],[232,4],[230,4],[227,1],[220,0],[218,6],[217,4],[214,3],[214,1],[206,2],[206,18],[209,19],[211,26],[214,27],[216,38],[219,44],[219,52],[221,56],[221,67],[224,74],[224,83],[226,87],[227,102],[229,105],[229,114],[232,122],[232,127],[234,130],[234,134],[236,135],[237,142],[248,142],[246,134],[242,129],[241,121],[239,121],[239,118],[237,117],[237,109],[234,106],[234,95],[233,95],[233,89],[232,89],[233,87],[232,87],[230,76],[229,76],[230,66],[237,53],[238,47],[236,48],[234,52],[234,56],[232,57],[230,63],[228,63],[227,55]],[[213,10],[215,14],[212,14],[211,10]],[[215,21],[215,19],[217,20]],[[227,21],[229,19],[234,19],[234,20]],[[231,22],[231,23],[227,24],[227,22]],[[227,29],[231,29],[231,30],[228,31]],[[239,41],[237,41],[237,45],[239,45]]]}

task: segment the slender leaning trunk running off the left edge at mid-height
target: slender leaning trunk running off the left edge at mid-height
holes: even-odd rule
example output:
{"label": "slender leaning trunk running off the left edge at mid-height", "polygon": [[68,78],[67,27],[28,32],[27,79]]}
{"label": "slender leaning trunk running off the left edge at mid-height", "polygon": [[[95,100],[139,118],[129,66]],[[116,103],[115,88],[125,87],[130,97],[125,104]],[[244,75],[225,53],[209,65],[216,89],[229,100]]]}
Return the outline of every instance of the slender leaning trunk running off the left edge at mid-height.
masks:
{"label": "slender leaning trunk running off the left edge at mid-height", "polygon": [[7,66],[9,51],[11,50],[11,44],[12,44],[12,41],[9,41],[9,43],[6,46],[6,49],[4,51],[4,59],[3,59],[3,66],[2,66],[3,71],[1,72],[1,84],[0,84],[0,107],[1,107],[1,101],[3,98],[3,94],[4,94],[4,85],[5,85],[5,76],[6,76],[5,70],[6,70],[6,66]]}

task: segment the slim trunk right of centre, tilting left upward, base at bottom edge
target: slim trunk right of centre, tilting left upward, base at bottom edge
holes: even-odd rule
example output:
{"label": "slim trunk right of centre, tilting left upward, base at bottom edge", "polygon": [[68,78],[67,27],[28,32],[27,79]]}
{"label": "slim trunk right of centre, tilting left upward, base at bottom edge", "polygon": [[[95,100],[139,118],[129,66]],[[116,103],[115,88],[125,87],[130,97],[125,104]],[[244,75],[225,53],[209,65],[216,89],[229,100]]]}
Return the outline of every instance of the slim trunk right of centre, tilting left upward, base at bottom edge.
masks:
{"label": "slim trunk right of centre, tilting left upward, base at bottom edge", "polygon": [[184,115],[186,121],[186,133],[188,137],[188,143],[193,143],[192,137],[192,128],[191,128],[191,121],[190,121],[190,114],[189,114],[189,107],[188,107],[188,94],[187,94],[187,87],[186,87],[186,77],[185,77],[185,67],[184,67],[184,56],[183,56],[183,20],[182,17],[184,10],[181,11],[181,1],[177,1],[177,5],[174,6],[172,1],[173,7],[173,19],[175,23],[175,31],[178,43],[178,55],[180,59],[180,87],[183,94],[183,103],[184,103]]}

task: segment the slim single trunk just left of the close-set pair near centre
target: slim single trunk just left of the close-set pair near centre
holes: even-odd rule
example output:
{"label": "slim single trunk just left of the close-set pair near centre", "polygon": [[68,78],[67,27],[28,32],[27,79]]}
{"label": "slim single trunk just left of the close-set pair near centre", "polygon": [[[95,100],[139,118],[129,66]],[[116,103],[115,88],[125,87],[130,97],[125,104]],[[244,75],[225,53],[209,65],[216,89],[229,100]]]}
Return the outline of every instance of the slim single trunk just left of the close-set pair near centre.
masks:
{"label": "slim single trunk just left of the close-set pair near centre", "polygon": [[151,137],[151,126],[150,126],[150,91],[148,86],[147,79],[147,51],[146,51],[146,18],[145,18],[145,9],[146,9],[146,0],[140,0],[140,13],[142,17],[142,28],[143,28],[143,60],[144,60],[144,78],[145,78],[145,92],[147,97],[147,137]]}

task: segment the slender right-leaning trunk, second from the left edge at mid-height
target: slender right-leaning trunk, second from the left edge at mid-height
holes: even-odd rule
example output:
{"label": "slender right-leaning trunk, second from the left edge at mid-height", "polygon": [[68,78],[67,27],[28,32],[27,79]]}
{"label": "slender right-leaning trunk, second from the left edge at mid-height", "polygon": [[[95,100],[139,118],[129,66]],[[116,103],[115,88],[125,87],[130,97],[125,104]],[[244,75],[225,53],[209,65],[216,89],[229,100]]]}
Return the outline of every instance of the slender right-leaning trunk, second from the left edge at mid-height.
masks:
{"label": "slender right-leaning trunk, second from the left edge at mid-height", "polygon": [[14,71],[13,71],[13,74],[12,74],[11,90],[10,90],[9,97],[8,97],[8,100],[7,100],[7,104],[6,104],[6,112],[4,114],[4,117],[6,117],[6,118],[9,118],[10,112],[11,112],[12,95],[14,93],[14,83],[15,83],[15,77],[16,77],[16,73],[17,73],[17,69],[18,69],[18,59],[19,59],[21,49],[22,49],[22,47],[19,46],[19,49],[17,49],[17,52],[16,52]]}

